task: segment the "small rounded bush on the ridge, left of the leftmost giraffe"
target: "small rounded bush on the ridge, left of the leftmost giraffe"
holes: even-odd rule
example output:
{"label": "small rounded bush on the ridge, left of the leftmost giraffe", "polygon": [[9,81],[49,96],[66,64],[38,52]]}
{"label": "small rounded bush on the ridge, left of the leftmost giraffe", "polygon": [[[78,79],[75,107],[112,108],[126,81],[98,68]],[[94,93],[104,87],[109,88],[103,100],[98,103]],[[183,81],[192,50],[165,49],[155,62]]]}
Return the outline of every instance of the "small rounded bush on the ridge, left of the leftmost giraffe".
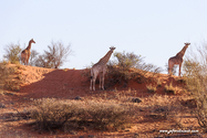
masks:
{"label": "small rounded bush on the ridge, left of the leftmost giraffe", "polygon": [[20,44],[10,43],[4,46],[6,54],[3,55],[4,59],[10,61],[12,64],[20,62],[20,52],[21,47]]}

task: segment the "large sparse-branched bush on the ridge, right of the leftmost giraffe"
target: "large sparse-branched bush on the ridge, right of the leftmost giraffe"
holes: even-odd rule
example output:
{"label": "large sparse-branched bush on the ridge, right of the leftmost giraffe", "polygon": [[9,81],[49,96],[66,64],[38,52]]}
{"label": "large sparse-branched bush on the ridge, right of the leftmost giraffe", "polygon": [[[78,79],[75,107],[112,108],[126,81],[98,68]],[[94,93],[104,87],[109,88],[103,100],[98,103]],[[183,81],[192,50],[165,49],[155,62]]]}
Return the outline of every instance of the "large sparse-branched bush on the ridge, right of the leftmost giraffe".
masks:
{"label": "large sparse-branched bush on the ridge, right of the leftmost giraffe", "polygon": [[48,68],[59,68],[66,62],[69,55],[72,54],[71,45],[64,47],[61,42],[52,42],[48,45],[49,51],[44,51],[43,55],[39,55],[35,65]]}

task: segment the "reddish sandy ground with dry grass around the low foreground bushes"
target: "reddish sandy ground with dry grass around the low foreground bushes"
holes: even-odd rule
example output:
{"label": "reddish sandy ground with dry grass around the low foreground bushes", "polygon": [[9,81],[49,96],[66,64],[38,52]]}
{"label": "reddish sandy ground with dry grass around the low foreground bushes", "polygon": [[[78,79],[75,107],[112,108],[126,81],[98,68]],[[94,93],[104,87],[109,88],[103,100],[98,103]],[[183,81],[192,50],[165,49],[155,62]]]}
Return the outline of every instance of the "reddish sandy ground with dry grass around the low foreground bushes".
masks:
{"label": "reddish sandy ground with dry grass around the low foreground bushes", "polygon": [[[8,66],[17,66],[9,64]],[[207,135],[198,125],[194,109],[195,100],[186,89],[185,82],[177,76],[156,74],[152,82],[115,84],[105,91],[90,91],[90,79],[83,75],[86,70],[52,70],[18,65],[13,79],[21,79],[20,87],[0,92],[0,137],[1,138],[87,138],[87,137],[131,137],[131,138],[185,138]],[[132,71],[133,72],[133,71]],[[158,85],[157,82],[161,82]],[[165,86],[173,83],[174,94],[166,93]],[[107,85],[107,79],[105,81]],[[147,86],[156,86],[148,92]],[[34,99],[59,98],[75,100],[111,100],[131,104],[136,108],[128,127],[117,130],[77,129],[72,131],[39,131],[24,117]],[[135,102],[132,99],[141,99]],[[167,131],[162,131],[167,130]],[[172,130],[172,131],[170,131]],[[176,130],[186,130],[178,132]]]}

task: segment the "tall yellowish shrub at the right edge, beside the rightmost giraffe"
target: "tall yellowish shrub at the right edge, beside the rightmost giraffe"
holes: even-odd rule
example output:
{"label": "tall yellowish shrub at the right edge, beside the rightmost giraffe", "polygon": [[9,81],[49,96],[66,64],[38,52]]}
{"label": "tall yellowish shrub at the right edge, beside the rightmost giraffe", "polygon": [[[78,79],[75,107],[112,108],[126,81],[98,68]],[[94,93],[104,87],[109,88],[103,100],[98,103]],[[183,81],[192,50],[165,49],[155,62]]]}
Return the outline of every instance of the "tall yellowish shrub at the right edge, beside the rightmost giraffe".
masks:
{"label": "tall yellowish shrub at the right edge, beside the rightmost giraffe", "polygon": [[189,53],[184,62],[186,84],[196,99],[198,124],[207,129],[207,45]]}

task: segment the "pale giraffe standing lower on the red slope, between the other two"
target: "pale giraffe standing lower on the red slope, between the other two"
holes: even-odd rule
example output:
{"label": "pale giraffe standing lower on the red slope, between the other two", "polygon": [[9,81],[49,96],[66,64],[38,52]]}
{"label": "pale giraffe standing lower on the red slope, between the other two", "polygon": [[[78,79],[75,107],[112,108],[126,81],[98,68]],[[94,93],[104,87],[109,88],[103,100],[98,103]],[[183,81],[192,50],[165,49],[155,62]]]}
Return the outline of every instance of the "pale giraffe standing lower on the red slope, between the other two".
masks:
{"label": "pale giraffe standing lower on the red slope, between the other two", "polygon": [[[95,79],[96,76],[100,74],[100,89],[102,88],[104,91],[104,75],[106,73],[107,66],[106,63],[108,62],[112,53],[114,52],[115,47],[111,46],[110,51],[91,68],[91,86],[90,89],[95,91]],[[93,85],[93,87],[92,87]]]}

